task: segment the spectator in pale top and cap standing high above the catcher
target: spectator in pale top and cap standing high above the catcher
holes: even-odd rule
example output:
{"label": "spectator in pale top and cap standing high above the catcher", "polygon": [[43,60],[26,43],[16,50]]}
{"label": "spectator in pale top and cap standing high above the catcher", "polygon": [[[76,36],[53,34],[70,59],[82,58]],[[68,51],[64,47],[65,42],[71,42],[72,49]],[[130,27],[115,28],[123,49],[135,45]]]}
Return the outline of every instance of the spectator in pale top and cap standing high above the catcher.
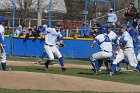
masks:
{"label": "spectator in pale top and cap standing high above the catcher", "polygon": [[108,24],[108,26],[113,27],[113,26],[115,26],[116,22],[117,22],[117,16],[113,12],[113,9],[111,8],[109,10],[109,13],[107,14],[107,24]]}

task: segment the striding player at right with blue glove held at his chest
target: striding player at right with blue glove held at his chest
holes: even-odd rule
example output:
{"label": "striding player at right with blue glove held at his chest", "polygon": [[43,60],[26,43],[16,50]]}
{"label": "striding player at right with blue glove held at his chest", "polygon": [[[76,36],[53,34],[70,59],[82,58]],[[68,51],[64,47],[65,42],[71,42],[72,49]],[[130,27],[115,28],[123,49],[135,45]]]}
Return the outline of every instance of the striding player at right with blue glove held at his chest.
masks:
{"label": "striding player at right with blue glove held at his chest", "polygon": [[117,40],[118,51],[117,51],[116,58],[113,60],[112,72],[110,73],[110,76],[115,74],[117,64],[121,60],[123,60],[124,57],[128,59],[132,67],[136,68],[137,70],[140,70],[140,64],[138,64],[138,61],[134,53],[133,40],[130,34],[126,31],[126,28],[127,27],[125,25],[121,25],[120,28],[121,35],[118,37]]}

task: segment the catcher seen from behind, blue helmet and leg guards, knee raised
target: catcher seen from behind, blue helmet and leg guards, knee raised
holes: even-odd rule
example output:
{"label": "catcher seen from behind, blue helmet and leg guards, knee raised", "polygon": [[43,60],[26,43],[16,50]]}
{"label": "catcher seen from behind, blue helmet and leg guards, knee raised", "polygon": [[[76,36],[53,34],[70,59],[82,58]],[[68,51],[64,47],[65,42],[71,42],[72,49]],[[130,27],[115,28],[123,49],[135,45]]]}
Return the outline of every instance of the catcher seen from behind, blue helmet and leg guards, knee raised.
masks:
{"label": "catcher seen from behind, blue helmet and leg guards, knee raised", "polygon": [[94,47],[96,42],[99,43],[101,51],[94,53],[91,55],[90,60],[93,66],[95,74],[98,74],[99,71],[99,60],[104,60],[112,57],[112,39],[114,37],[111,34],[108,34],[106,28],[101,26],[100,27],[101,34],[97,35],[91,47]]}

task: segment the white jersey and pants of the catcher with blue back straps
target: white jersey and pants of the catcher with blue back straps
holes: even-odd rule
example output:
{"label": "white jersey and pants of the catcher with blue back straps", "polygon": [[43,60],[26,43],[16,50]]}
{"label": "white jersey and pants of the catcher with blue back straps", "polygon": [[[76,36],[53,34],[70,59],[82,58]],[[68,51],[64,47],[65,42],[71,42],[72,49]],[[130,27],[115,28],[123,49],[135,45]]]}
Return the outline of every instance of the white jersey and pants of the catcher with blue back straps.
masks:
{"label": "white jersey and pants of the catcher with blue back straps", "polygon": [[109,34],[99,34],[95,40],[100,44],[101,51],[92,54],[91,61],[98,59],[106,59],[112,57],[112,41],[116,38],[116,34],[111,31]]}

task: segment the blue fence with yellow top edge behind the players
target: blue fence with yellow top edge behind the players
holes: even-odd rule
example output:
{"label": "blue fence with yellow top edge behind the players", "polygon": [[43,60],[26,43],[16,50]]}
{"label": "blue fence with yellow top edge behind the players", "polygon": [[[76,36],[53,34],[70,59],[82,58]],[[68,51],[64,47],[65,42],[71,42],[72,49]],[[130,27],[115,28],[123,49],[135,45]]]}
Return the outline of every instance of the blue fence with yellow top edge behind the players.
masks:
{"label": "blue fence with yellow top edge behind the players", "polygon": [[[40,38],[14,37],[12,47],[12,37],[5,37],[5,51],[12,56],[39,57],[44,52],[44,40]],[[60,51],[66,58],[89,58],[89,56],[99,51],[99,45],[95,44],[90,48],[91,38],[64,38],[65,47]]]}

